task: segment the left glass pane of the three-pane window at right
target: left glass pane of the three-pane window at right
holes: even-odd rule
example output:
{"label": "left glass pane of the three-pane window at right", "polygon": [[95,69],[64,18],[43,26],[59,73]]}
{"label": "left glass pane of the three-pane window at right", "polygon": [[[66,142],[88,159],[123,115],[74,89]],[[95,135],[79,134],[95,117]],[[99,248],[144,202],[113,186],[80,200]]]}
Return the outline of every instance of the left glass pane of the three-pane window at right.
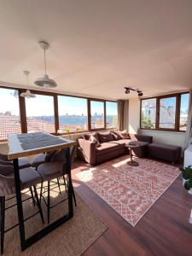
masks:
{"label": "left glass pane of the three-pane window at right", "polygon": [[142,119],[141,128],[155,129],[156,119],[156,99],[148,99],[142,101]]}

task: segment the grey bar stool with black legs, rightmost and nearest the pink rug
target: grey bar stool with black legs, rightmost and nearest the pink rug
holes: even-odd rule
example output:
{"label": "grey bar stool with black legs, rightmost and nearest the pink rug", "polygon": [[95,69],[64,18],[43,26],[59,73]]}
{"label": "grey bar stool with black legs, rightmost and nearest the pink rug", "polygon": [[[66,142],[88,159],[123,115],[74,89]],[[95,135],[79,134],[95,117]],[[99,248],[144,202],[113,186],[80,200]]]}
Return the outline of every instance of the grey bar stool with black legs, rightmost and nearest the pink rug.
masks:
{"label": "grey bar stool with black legs, rightmost and nearest the pink rug", "polygon": [[[70,148],[71,162],[73,162],[74,151],[75,151],[75,147]],[[65,175],[67,175],[65,152],[66,152],[65,148],[61,149],[59,151],[55,151],[55,154],[52,154],[50,161],[45,162],[44,164],[38,166],[38,169],[37,169],[39,175],[42,177],[40,200],[41,200],[41,198],[44,199],[44,195],[43,195],[44,182],[48,183],[48,185],[47,185],[47,192],[48,192],[47,201],[44,200],[44,202],[47,206],[48,224],[49,224],[50,209],[55,207],[56,205],[58,205],[58,203],[57,203],[54,206],[50,206],[50,181],[55,178],[57,178],[57,180],[58,180],[58,178],[63,177],[64,185],[65,185],[65,188],[67,191],[67,183],[66,183],[66,177],[65,177]],[[60,189],[60,184],[59,184],[59,189]],[[73,200],[74,200],[75,206],[77,206],[73,186],[72,186],[72,192],[73,192]],[[61,190],[60,190],[60,193],[61,193]],[[62,200],[62,201],[64,201],[64,200]],[[59,203],[61,203],[62,201],[60,201]]]}

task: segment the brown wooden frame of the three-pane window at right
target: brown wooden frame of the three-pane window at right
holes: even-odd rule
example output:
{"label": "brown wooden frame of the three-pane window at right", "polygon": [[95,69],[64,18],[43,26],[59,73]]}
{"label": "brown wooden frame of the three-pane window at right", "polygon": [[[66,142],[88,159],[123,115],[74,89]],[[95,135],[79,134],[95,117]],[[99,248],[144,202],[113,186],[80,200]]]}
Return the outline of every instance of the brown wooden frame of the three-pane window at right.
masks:
{"label": "brown wooden frame of the three-pane window at right", "polygon": [[[180,127],[180,107],[181,107],[181,96],[183,94],[189,94],[189,91],[174,93],[174,94],[167,94],[163,96],[152,96],[148,98],[143,98],[140,100],[140,129],[141,130],[148,130],[148,131],[174,131],[174,132],[185,132],[179,130]],[[170,97],[176,97],[176,112],[175,112],[175,128],[161,128],[160,127],[160,100]],[[156,113],[155,113],[155,128],[148,129],[142,128],[142,101],[149,100],[149,99],[156,99]]]}

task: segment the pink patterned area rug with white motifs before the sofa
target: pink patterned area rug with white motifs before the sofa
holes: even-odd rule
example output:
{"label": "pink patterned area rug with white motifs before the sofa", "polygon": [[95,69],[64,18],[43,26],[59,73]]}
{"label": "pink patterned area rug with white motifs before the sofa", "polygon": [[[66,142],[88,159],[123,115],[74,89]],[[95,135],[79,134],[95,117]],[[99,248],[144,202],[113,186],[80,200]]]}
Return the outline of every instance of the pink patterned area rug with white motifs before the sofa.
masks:
{"label": "pink patterned area rug with white motifs before the sofa", "polygon": [[76,174],[132,226],[180,174],[175,166],[155,160],[135,160],[139,166],[127,165],[127,156],[123,156]]}

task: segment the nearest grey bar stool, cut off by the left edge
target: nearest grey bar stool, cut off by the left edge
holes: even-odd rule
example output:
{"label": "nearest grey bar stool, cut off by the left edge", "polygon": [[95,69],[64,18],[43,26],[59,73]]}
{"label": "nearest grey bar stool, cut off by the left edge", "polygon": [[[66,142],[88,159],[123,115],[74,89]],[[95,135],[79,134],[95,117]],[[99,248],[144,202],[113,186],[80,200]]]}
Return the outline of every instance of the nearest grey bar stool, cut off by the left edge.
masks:
{"label": "nearest grey bar stool, cut off by the left edge", "polygon": [[[38,192],[36,189],[36,184],[41,183],[41,177],[32,167],[23,168],[20,170],[20,187],[21,190],[27,188],[34,189],[34,198],[29,197],[26,200],[32,198],[35,201],[35,204],[38,207],[38,212],[32,214],[32,216],[26,218],[26,221],[29,218],[32,218],[36,214],[40,214],[42,222],[44,224],[44,215],[41,208],[40,201],[38,199]],[[23,193],[25,194],[25,192]],[[0,166],[0,207],[1,207],[1,254],[3,253],[3,241],[4,241],[4,233],[8,232],[9,230],[14,229],[18,224],[10,227],[8,230],[4,230],[4,218],[5,218],[5,211],[11,207],[15,207],[16,204],[5,207],[5,197],[8,195],[15,195],[15,177],[14,177],[14,167],[13,166]],[[15,197],[15,196],[14,196]],[[13,197],[11,197],[12,199]],[[9,200],[9,199],[8,199]],[[24,201],[26,201],[24,200]]]}

